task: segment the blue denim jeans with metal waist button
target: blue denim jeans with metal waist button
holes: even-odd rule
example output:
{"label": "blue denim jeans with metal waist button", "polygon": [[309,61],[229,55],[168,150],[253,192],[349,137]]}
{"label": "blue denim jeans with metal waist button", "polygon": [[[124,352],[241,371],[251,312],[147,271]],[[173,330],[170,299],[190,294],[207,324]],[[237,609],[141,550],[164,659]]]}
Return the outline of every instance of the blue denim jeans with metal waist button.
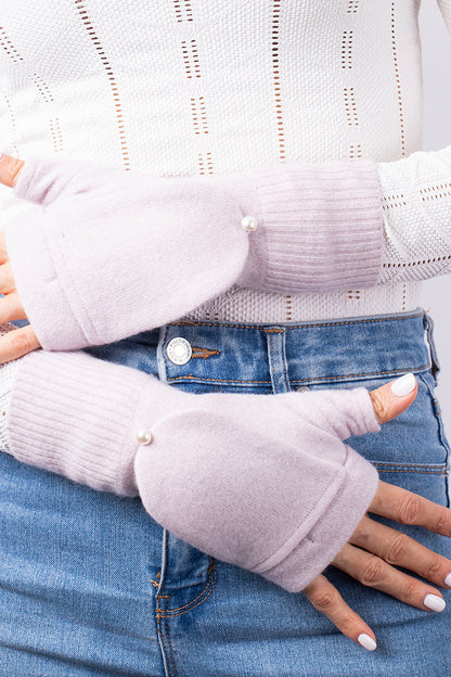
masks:
{"label": "blue denim jeans with metal waist button", "polygon": [[[183,365],[167,353],[178,336],[192,347]],[[90,352],[195,393],[375,388],[413,371],[420,387],[412,407],[349,444],[382,480],[449,506],[449,448],[434,394],[438,363],[422,310],[278,325],[173,322]],[[429,613],[328,567],[376,634],[370,653],[301,593],[192,548],[138,499],[93,491],[7,455],[0,463],[1,676],[451,675],[447,591],[447,610]],[[379,521],[451,559],[447,538]]]}

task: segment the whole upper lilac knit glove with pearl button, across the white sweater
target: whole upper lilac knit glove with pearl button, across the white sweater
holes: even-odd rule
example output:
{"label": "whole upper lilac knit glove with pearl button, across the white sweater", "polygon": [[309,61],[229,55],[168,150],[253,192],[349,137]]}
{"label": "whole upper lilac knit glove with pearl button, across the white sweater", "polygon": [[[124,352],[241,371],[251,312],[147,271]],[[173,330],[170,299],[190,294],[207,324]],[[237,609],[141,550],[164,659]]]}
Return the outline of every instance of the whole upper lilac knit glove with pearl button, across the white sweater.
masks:
{"label": "whole upper lilac knit glove with pearl button, across the white sweater", "polygon": [[[14,193],[39,206],[12,219],[5,239],[41,346],[112,343],[236,282],[292,292],[374,284],[383,243],[374,164],[309,167],[167,179],[29,157]],[[244,230],[246,215],[256,232]]]}

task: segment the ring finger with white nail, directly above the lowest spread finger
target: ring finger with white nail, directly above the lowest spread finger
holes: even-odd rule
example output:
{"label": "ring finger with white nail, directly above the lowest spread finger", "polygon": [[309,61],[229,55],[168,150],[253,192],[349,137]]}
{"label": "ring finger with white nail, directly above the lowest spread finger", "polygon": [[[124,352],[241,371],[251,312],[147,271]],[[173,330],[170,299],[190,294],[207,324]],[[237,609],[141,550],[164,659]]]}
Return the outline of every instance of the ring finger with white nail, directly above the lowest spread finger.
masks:
{"label": "ring finger with white nail, directly above the lowest spread finger", "polygon": [[436,588],[349,544],[342,548],[332,564],[362,585],[386,592],[411,606],[424,611],[443,611],[446,606],[441,592]]}

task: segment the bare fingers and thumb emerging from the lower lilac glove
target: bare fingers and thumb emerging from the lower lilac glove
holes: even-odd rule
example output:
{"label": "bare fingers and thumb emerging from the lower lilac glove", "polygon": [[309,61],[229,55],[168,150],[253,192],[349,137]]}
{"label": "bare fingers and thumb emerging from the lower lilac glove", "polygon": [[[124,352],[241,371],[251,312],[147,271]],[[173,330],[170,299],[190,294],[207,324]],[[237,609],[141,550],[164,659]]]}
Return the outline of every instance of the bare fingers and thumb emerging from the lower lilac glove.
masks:
{"label": "bare fingers and thumb emerging from the lower lilac glove", "polygon": [[[381,423],[400,413],[401,403],[389,386],[387,384],[370,393]],[[385,482],[379,482],[369,512],[400,524],[420,525],[436,534],[451,536],[451,510]],[[444,609],[441,592],[398,571],[395,565],[408,569],[435,585],[451,588],[450,560],[368,515],[363,516],[349,541],[331,563],[362,585],[383,590],[424,611]],[[372,629],[348,606],[325,576],[317,576],[302,592],[346,637],[362,642],[365,649],[376,648]]]}

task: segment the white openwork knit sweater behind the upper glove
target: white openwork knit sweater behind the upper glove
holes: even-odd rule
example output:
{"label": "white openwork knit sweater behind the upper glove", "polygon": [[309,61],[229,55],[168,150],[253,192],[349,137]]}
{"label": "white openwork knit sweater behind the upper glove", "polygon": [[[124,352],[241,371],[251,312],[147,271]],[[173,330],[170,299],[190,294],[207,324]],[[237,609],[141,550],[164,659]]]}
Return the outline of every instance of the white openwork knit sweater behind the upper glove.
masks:
{"label": "white openwork knit sweater behind the upper glove", "polygon": [[[451,0],[438,0],[451,27]],[[410,310],[451,260],[451,146],[422,143],[420,0],[0,0],[0,138],[154,176],[377,161],[383,282],[233,288],[190,318],[283,322]],[[4,222],[30,208],[0,191]]]}

